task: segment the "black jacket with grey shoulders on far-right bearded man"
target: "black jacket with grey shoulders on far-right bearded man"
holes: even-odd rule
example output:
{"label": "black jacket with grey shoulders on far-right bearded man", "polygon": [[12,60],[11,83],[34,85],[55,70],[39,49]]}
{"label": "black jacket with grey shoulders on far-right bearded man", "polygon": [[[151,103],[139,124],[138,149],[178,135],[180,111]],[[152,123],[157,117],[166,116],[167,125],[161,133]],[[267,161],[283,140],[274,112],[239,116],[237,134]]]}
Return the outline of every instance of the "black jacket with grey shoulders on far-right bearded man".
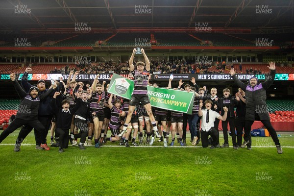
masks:
{"label": "black jacket with grey shoulders on far-right bearded man", "polygon": [[245,85],[241,82],[236,75],[233,75],[233,80],[237,85],[245,91],[246,95],[246,115],[245,120],[254,121],[255,114],[257,114],[260,120],[270,120],[269,111],[267,109],[267,93],[266,90],[274,81],[275,70],[270,70],[269,79],[263,83],[257,83],[254,87],[249,84]]}

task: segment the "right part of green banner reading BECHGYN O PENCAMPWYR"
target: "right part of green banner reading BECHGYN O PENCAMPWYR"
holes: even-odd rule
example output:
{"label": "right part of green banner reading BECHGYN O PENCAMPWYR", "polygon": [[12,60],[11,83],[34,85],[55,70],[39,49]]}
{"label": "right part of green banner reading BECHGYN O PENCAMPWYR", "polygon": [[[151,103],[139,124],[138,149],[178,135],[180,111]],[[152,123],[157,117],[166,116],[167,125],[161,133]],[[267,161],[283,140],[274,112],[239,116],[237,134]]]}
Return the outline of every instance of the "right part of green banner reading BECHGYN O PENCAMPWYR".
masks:
{"label": "right part of green banner reading BECHGYN O PENCAMPWYR", "polygon": [[193,92],[147,86],[150,104],[154,107],[192,114]]}

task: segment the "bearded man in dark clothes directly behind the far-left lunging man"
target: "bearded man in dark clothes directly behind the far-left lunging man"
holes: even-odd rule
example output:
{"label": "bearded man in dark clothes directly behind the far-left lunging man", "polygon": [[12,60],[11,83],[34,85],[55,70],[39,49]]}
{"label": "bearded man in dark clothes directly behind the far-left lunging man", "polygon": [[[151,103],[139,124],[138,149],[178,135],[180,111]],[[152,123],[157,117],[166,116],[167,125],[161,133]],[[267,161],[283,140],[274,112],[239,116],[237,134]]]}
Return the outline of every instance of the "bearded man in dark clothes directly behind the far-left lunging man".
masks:
{"label": "bearded man in dark clothes directly behind the far-left lunging man", "polygon": [[[31,72],[32,72],[31,68],[26,68],[25,73],[22,76],[22,87],[25,90],[25,92],[28,92],[28,90],[32,87],[32,85],[29,84],[27,81],[28,74]],[[62,85],[62,83],[60,83],[60,84]],[[37,87],[39,89],[40,95],[43,95],[49,91],[49,89],[46,89],[46,83],[43,79],[41,79],[37,82]],[[52,91],[52,93],[46,99],[43,99],[42,101],[40,101],[38,120],[45,127],[45,130],[44,130],[45,132],[42,133],[43,137],[45,137],[45,138],[41,138],[40,131],[34,129],[35,140],[36,140],[36,149],[43,149],[42,147],[40,147],[41,140],[44,140],[44,139],[46,140],[48,130],[49,130],[52,118],[53,118],[53,112],[52,112],[52,108],[50,106],[50,101],[51,101],[51,98],[52,98],[54,92],[58,91],[58,89],[59,88],[56,88],[56,90]],[[31,130],[32,130],[31,126],[24,126],[24,127],[22,127],[20,133],[23,131],[26,133],[29,133]]]}

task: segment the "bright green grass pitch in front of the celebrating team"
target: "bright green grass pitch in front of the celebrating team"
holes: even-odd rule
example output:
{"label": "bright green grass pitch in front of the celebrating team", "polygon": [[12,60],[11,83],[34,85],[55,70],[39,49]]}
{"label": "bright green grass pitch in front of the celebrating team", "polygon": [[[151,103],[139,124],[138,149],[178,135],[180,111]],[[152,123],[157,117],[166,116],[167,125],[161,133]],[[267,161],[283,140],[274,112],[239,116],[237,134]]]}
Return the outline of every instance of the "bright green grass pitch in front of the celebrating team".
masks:
{"label": "bright green grass pitch in front of the celebrating team", "polygon": [[0,196],[294,195],[290,134],[279,137],[283,154],[276,152],[270,137],[253,137],[251,151],[190,143],[164,148],[156,140],[152,147],[107,142],[98,149],[69,146],[59,153],[54,147],[35,149],[33,132],[21,151],[14,152],[18,132],[0,144]]}

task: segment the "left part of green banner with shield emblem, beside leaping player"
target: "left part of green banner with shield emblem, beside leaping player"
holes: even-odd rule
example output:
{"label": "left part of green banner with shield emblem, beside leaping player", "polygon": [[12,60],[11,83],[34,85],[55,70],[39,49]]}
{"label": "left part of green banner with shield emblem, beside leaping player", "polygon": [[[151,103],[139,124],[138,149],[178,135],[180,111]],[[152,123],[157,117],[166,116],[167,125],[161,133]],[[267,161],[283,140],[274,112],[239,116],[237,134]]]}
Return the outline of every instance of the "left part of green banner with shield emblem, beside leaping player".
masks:
{"label": "left part of green banner with shield emblem, beside leaping player", "polygon": [[131,99],[134,91],[134,81],[113,73],[108,87],[108,93]]}

